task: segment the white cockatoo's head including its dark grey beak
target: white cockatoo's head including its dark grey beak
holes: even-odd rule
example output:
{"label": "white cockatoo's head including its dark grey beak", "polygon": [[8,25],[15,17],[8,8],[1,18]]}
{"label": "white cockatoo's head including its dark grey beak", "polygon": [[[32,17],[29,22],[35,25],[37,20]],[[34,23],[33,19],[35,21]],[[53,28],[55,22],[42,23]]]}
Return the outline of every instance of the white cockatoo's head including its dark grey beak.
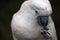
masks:
{"label": "white cockatoo's head including its dark grey beak", "polygon": [[37,17],[40,25],[47,26],[48,18],[52,14],[52,7],[49,0],[27,0],[23,3],[21,9],[27,12],[30,17]]}

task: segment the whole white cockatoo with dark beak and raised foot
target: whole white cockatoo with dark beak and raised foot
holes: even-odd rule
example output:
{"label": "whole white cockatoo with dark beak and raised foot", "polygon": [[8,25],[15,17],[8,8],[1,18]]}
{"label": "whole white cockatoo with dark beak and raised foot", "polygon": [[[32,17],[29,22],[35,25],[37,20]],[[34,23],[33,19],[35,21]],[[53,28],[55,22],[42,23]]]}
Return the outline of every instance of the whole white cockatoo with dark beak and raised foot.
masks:
{"label": "whole white cockatoo with dark beak and raised foot", "polygon": [[26,0],[11,21],[14,40],[57,40],[49,0]]}

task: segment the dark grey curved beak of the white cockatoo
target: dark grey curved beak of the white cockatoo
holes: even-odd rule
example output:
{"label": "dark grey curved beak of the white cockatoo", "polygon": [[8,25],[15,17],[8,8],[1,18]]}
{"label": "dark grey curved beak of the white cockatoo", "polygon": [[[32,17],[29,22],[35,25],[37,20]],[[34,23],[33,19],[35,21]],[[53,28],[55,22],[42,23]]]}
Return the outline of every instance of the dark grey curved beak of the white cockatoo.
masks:
{"label": "dark grey curved beak of the white cockatoo", "polygon": [[49,16],[38,16],[37,17],[37,22],[41,26],[47,26],[48,25],[48,17]]}

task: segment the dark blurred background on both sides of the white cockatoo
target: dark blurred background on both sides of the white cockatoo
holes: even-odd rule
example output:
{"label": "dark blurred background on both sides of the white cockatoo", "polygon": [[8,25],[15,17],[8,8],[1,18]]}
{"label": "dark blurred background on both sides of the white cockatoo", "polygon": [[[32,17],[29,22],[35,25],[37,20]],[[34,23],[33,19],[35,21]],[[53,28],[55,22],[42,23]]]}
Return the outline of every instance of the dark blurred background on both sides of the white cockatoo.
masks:
{"label": "dark blurred background on both sides of the white cockatoo", "polygon": [[[15,12],[20,9],[24,0],[0,0],[0,40],[13,40],[11,33],[11,19]],[[50,0],[55,23],[57,37],[60,40],[60,1]]]}

